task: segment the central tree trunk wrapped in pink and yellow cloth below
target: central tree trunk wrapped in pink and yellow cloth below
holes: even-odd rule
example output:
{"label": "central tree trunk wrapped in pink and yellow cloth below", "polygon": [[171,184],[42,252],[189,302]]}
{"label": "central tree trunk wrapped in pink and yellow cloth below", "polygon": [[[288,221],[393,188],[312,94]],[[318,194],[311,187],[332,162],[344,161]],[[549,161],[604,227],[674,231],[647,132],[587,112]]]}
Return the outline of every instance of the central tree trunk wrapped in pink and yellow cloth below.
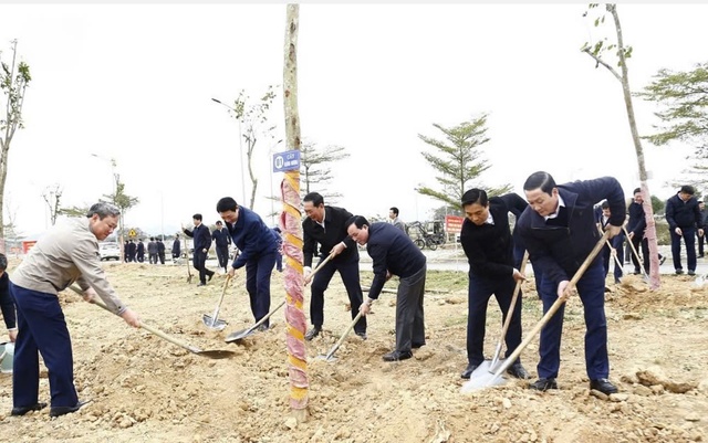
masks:
{"label": "central tree trunk wrapped in pink and yellow cloth below", "polygon": [[[283,106],[285,114],[285,143],[289,150],[300,150],[300,114],[298,110],[298,31],[300,7],[288,4],[283,63]],[[283,211],[280,223],[284,234],[285,259],[285,320],[288,321],[288,373],[290,376],[290,408],[298,422],[308,419],[308,358],[304,345],[306,329],[302,310],[304,278],[302,214],[300,212],[300,170],[285,173],[280,186]]]}

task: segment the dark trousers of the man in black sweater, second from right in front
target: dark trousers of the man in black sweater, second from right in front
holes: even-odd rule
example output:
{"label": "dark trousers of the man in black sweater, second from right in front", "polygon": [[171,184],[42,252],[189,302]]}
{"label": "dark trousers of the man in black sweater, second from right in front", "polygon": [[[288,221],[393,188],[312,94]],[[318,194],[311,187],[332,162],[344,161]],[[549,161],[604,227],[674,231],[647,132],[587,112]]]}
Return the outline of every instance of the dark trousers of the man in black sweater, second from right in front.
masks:
{"label": "dark trousers of the man in black sweater, second from right in front", "polygon": [[[477,275],[469,276],[468,310],[467,310],[467,360],[470,365],[481,365],[485,361],[485,326],[487,324],[487,305],[492,294],[497,298],[502,314],[502,325],[511,306],[511,298],[517,283],[511,277],[486,278]],[[507,356],[510,356],[521,345],[521,294],[519,294],[511,314],[511,323],[507,337]],[[517,360],[519,361],[519,360]]]}

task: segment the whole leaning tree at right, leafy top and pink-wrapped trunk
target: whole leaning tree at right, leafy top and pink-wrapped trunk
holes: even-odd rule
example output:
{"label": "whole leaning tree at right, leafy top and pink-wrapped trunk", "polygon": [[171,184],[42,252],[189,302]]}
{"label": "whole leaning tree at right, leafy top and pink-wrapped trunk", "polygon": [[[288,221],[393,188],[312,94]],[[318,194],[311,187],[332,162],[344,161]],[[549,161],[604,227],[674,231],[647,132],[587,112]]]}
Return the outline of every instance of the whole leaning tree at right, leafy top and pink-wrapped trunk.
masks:
{"label": "whole leaning tree at right, leafy top and pink-wrapped trunk", "polygon": [[[583,14],[590,18],[591,11],[598,11],[597,3],[591,3],[587,11]],[[622,85],[622,93],[624,96],[624,104],[627,112],[627,120],[629,123],[629,131],[632,133],[632,139],[634,141],[634,150],[637,156],[637,166],[639,168],[639,180],[642,183],[642,194],[644,197],[644,213],[646,215],[646,231],[644,236],[649,243],[649,276],[650,287],[657,289],[660,284],[659,278],[659,260],[658,247],[656,242],[656,222],[654,221],[654,210],[652,208],[652,199],[649,187],[647,184],[646,167],[644,165],[644,149],[642,148],[642,139],[637,129],[636,118],[634,115],[634,104],[632,102],[632,89],[629,88],[629,70],[627,67],[627,59],[632,56],[632,46],[625,46],[624,38],[622,35],[622,25],[620,23],[620,15],[617,14],[617,6],[612,3],[605,4],[605,12],[608,12],[612,17],[615,28],[616,42],[611,42],[607,38],[598,40],[592,44],[585,42],[582,52],[590,55],[595,61],[595,67],[603,66],[612,75],[617,78]],[[605,14],[600,13],[594,19],[595,28],[605,23]],[[613,62],[608,62],[607,59],[613,59]],[[620,72],[614,66],[620,66]]]}

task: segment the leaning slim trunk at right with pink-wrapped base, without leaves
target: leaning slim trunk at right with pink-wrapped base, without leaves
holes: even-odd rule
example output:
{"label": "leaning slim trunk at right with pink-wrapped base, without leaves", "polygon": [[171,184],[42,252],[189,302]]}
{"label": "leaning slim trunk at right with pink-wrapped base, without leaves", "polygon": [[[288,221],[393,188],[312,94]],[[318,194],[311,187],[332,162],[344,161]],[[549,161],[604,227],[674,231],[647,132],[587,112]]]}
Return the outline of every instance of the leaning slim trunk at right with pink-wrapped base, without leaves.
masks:
{"label": "leaning slim trunk at right with pink-wrapped base, without leaves", "polygon": [[[644,199],[644,213],[646,217],[646,231],[644,233],[644,236],[647,239],[649,244],[649,286],[652,289],[657,289],[660,285],[659,255],[658,245],[656,243],[656,223],[654,221],[654,210],[652,209],[652,194],[649,193],[649,186],[647,184],[648,177],[646,173],[646,167],[644,165],[644,150],[642,149],[642,139],[639,138],[636,120],[634,118],[632,91],[629,89],[629,74],[627,68],[627,61],[624,53],[624,41],[622,36],[620,17],[617,15],[617,8],[615,4],[607,4],[607,11],[612,13],[612,18],[615,22],[615,29],[617,30],[617,54],[620,57],[620,66],[622,68],[620,81],[622,83],[624,103],[627,108],[629,130],[632,131],[632,139],[634,140],[634,150],[637,155],[637,165],[639,167],[639,181],[642,182],[642,197]],[[642,263],[639,263],[639,265],[642,266]]]}

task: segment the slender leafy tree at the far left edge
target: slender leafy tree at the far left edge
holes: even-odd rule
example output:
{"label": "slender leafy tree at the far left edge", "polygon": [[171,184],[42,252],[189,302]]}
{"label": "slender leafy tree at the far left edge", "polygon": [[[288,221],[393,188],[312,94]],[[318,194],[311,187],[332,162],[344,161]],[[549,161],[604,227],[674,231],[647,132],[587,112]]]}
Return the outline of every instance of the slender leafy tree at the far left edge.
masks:
{"label": "slender leafy tree at the far left edge", "polygon": [[[8,154],[10,144],[18,128],[23,128],[22,124],[22,105],[24,104],[24,92],[27,91],[32,76],[30,75],[30,66],[20,61],[18,62],[18,41],[13,40],[12,60],[8,64],[2,60],[0,51],[0,89],[4,98],[4,115],[0,116],[0,226],[4,228],[3,205],[4,205],[4,184],[8,178]],[[4,238],[0,232],[0,238]]]}

